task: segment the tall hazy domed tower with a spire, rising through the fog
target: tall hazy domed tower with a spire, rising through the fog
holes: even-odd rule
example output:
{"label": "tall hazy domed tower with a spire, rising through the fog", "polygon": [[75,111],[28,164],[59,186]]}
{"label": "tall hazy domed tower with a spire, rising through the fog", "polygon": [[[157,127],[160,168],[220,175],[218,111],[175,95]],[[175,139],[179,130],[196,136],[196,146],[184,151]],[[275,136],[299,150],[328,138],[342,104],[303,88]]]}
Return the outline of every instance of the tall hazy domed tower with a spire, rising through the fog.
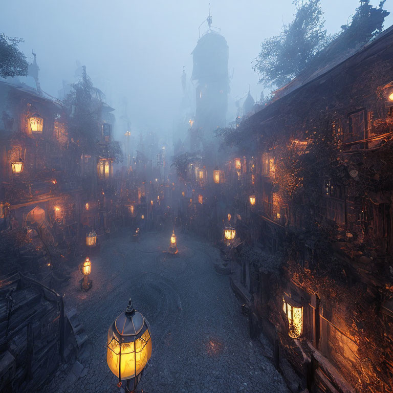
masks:
{"label": "tall hazy domed tower with a spire, rising through the fog", "polygon": [[226,125],[229,93],[228,45],[220,30],[211,26],[211,21],[209,11],[202,23],[207,22],[208,30],[192,51],[191,78],[196,82],[195,127],[205,137],[212,135],[217,127]]}

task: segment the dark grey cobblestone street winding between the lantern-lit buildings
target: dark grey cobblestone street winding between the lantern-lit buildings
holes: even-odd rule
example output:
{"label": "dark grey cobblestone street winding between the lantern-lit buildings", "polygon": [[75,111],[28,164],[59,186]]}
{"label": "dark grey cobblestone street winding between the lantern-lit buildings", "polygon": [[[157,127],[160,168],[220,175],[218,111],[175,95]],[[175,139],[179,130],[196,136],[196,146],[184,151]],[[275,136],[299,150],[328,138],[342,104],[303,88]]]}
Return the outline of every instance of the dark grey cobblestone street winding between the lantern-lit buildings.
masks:
{"label": "dark grey cobblestone street winding between the lantern-lit buildings", "polygon": [[70,368],[43,388],[46,392],[117,392],[106,365],[106,335],[128,299],[150,322],[153,352],[138,390],[163,392],[286,392],[261,345],[248,335],[228,276],[218,274],[219,251],[191,235],[179,234],[179,253],[166,253],[170,232],[129,233],[101,245],[92,256],[93,287],[78,290],[75,271],[64,289],[66,310],[75,307],[89,336],[90,356],[82,376]]}

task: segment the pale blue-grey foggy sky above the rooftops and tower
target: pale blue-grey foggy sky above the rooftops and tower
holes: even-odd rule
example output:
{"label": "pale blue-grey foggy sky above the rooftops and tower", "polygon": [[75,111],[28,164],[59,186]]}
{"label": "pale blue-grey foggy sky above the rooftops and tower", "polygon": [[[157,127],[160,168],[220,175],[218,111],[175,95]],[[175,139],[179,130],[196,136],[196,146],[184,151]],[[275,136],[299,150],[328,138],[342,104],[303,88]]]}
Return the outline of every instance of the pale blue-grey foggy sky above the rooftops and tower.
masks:
{"label": "pale blue-grey foggy sky above the rooftops and tower", "polygon": [[[0,32],[23,38],[20,47],[30,61],[31,51],[37,54],[43,91],[57,97],[63,79],[74,81],[79,60],[117,108],[117,117],[126,97],[134,126],[168,132],[178,114],[183,65],[190,77],[190,54],[209,2],[213,26],[221,28],[229,46],[229,99],[243,96],[249,85],[259,99],[251,63],[261,40],[292,20],[292,0],[1,0]],[[322,0],[328,32],[339,31],[358,5]],[[385,9],[393,11],[390,7],[388,0]],[[389,15],[385,28],[392,23]]]}

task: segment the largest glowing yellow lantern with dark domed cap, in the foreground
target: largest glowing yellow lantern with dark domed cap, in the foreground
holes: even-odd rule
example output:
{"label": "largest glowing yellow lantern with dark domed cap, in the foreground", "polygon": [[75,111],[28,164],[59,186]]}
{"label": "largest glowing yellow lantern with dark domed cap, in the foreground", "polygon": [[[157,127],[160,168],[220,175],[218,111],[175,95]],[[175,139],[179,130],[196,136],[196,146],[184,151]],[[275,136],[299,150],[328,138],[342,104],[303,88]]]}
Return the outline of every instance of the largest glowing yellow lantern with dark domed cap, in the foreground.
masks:
{"label": "largest glowing yellow lantern with dark domed cap, in the foreground", "polygon": [[106,343],[106,363],[118,387],[127,380],[126,391],[134,391],[151,357],[150,325],[129,299],[127,308],[112,323]]}

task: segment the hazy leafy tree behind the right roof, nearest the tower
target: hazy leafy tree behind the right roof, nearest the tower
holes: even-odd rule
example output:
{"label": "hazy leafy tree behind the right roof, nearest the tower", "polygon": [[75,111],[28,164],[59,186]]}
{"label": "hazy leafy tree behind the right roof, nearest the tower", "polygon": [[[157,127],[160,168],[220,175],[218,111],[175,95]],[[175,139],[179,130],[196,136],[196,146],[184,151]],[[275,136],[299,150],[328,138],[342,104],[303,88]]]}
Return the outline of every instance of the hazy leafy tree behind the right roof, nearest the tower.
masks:
{"label": "hazy leafy tree behind the right roof, nearest the tower", "polygon": [[288,83],[331,40],[323,29],[320,0],[294,0],[295,19],[278,36],[265,39],[253,69],[265,87]]}

